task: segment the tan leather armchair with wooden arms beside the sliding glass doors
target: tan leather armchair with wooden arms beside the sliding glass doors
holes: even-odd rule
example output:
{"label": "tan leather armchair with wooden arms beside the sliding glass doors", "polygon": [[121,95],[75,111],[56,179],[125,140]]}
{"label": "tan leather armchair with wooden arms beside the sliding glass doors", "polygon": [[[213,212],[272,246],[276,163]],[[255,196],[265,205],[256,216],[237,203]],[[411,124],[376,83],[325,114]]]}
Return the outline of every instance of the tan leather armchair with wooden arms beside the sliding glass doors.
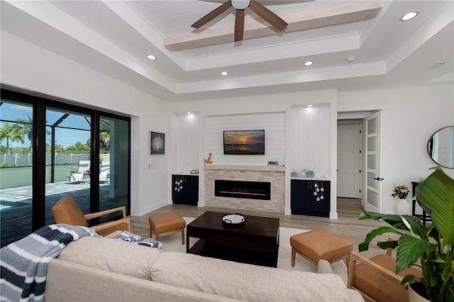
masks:
{"label": "tan leather armchair with wooden arms beside the sliding glass doors", "polygon": [[59,201],[57,201],[57,203],[55,203],[54,206],[52,206],[55,223],[66,223],[68,225],[88,226],[87,220],[115,213],[117,211],[123,212],[123,218],[120,220],[94,225],[91,228],[96,230],[96,232],[102,236],[114,233],[116,230],[127,230],[128,232],[134,233],[131,225],[131,219],[126,218],[126,208],[124,206],[84,215],[79,206],[77,206],[77,203],[69,195],[63,196]]}

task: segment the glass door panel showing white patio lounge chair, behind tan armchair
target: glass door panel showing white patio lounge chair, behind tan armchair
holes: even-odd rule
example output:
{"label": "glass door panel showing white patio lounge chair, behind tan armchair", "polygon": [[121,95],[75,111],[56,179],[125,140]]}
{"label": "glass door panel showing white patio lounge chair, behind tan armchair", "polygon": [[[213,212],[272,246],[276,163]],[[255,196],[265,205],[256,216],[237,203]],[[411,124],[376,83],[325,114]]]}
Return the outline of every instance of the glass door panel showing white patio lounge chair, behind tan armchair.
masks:
{"label": "glass door panel showing white patio lounge chair, behind tan armchair", "polygon": [[46,110],[45,223],[55,223],[52,206],[70,195],[90,212],[91,117],[56,108]]}

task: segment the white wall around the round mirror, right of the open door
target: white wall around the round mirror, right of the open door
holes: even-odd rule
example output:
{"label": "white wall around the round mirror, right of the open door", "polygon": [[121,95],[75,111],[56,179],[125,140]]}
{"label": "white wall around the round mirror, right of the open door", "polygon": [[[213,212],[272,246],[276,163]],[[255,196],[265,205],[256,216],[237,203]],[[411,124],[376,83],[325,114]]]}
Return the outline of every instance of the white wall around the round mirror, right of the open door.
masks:
{"label": "white wall around the round mirror, right of the open door", "polygon": [[[338,111],[382,110],[383,213],[394,213],[394,184],[411,189],[411,181],[427,177],[428,168],[436,166],[426,152],[427,142],[439,128],[454,125],[453,107],[452,85],[338,94]],[[443,170],[454,177],[454,169]]]}

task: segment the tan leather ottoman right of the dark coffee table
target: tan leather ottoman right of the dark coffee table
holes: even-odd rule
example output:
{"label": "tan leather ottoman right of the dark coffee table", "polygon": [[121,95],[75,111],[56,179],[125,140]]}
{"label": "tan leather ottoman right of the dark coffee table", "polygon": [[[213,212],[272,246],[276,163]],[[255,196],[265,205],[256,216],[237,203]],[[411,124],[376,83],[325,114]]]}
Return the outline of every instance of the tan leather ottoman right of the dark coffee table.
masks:
{"label": "tan leather ottoman right of the dark coffee table", "polygon": [[296,253],[317,265],[320,259],[333,263],[347,258],[353,250],[353,243],[350,240],[322,229],[293,235],[290,237],[290,245],[292,245],[292,267],[295,266]]}

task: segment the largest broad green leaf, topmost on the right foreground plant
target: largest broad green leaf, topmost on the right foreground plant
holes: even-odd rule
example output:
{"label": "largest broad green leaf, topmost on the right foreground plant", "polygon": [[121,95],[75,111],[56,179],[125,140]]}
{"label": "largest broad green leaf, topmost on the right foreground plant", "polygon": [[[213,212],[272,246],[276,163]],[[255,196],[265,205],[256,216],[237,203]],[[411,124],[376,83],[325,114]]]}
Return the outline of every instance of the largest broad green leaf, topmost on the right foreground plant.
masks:
{"label": "largest broad green leaf, topmost on the right foreground plant", "polygon": [[416,187],[416,198],[430,211],[443,245],[454,244],[454,179],[438,168]]}

